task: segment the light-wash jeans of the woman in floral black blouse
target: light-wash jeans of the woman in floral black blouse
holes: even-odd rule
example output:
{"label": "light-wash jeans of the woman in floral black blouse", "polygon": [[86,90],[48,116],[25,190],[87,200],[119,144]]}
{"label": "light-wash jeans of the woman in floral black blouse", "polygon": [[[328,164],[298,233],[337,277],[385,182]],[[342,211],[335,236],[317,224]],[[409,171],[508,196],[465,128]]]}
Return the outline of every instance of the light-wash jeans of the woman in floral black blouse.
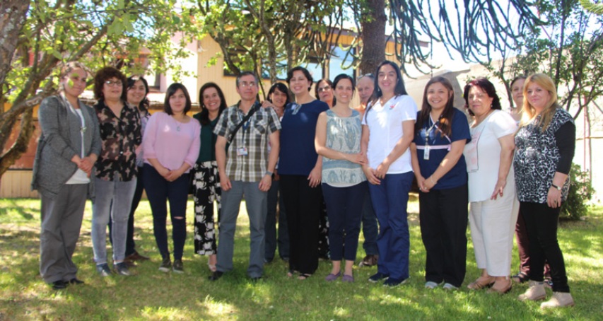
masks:
{"label": "light-wash jeans of the woman in floral black blouse", "polygon": [[92,203],[92,247],[94,262],[107,263],[107,223],[112,220],[113,262],[122,262],[126,255],[128,218],[136,178],[128,182],[101,180],[94,177],[95,199]]}

